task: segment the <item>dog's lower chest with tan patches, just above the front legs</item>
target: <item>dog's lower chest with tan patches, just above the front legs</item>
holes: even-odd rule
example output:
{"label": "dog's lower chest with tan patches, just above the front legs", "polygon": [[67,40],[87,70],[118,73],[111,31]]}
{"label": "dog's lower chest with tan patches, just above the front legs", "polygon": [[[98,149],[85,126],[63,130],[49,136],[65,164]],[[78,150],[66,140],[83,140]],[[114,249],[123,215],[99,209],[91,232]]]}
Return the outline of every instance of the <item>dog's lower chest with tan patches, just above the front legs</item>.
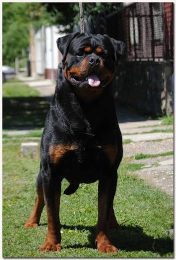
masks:
{"label": "dog's lower chest with tan patches, just above the front legs", "polygon": [[117,158],[117,147],[111,144],[50,146],[52,162],[71,183],[90,183],[107,174]]}

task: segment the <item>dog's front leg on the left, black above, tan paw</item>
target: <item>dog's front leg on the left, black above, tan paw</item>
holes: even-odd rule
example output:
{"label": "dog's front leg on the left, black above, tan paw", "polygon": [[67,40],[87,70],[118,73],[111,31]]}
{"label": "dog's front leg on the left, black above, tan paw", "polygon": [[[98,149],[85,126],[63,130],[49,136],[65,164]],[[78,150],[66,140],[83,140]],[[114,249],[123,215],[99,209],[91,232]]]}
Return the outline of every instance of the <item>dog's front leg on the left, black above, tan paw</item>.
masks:
{"label": "dog's front leg on the left, black above, tan paw", "polygon": [[56,178],[56,174],[50,170],[43,172],[43,187],[45,204],[48,217],[48,234],[46,241],[40,250],[60,251],[61,250],[61,225],[59,219],[61,179]]}

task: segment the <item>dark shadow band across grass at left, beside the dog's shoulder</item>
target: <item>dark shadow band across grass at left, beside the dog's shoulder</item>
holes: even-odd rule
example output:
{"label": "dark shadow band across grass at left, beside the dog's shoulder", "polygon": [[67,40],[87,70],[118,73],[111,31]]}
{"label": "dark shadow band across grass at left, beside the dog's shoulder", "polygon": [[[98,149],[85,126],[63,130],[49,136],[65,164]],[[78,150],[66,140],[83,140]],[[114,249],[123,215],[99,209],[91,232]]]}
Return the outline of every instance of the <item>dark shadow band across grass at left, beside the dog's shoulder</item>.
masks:
{"label": "dark shadow band across grass at left, beside the dog's shoulder", "polygon": [[48,97],[3,98],[3,129],[44,127],[50,102]]}

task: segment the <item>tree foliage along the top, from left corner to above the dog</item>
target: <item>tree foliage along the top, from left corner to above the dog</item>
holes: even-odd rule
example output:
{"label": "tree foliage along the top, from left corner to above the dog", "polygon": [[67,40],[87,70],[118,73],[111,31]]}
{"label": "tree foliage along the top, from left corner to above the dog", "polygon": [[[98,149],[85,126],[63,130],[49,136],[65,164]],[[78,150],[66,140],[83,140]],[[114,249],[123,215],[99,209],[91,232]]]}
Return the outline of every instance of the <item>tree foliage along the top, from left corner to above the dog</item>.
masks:
{"label": "tree foliage along the top, from left corner to above the dog", "polygon": [[[84,18],[96,18],[100,10],[107,15],[118,10],[122,3],[83,3]],[[41,25],[63,25],[65,33],[71,33],[79,23],[78,3],[3,3],[3,64],[12,65],[17,56],[29,47],[29,29]]]}

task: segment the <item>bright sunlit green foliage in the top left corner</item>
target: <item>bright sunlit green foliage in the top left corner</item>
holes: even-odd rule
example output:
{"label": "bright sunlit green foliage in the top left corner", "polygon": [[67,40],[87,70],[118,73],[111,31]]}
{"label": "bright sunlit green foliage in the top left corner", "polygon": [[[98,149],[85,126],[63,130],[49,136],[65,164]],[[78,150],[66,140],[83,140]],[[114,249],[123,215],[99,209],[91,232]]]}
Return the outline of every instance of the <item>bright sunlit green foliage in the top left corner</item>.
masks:
{"label": "bright sunlit green foliage in the top left corner", "polygon": [[30,24],[37,29],[50,21],[40,3],[3,3],[3,64],[12,64],[29,47]]}

